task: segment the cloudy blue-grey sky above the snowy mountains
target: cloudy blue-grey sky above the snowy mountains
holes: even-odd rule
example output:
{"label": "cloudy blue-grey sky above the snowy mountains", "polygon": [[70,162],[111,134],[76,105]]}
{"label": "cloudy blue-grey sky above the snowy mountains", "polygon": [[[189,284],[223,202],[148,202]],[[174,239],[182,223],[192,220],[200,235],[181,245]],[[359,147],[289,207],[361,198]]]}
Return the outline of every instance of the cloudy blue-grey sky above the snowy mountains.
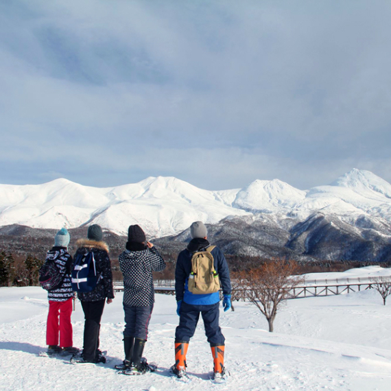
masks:
{"label": "cloudy blue-grey sky above the snowy mountains", "polygon": [[391,182],[391,2],[0,0],[0,183]]}

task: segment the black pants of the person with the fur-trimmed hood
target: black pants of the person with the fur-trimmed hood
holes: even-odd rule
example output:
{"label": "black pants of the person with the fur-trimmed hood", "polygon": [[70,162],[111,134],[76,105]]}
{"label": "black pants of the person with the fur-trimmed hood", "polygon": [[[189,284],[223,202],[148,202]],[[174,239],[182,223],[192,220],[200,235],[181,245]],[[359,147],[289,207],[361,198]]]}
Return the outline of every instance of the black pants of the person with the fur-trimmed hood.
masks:
{"label": "black pants of the person with the fur-trimmed hood", "polygon": [[103,300],[82,301],[84,311],[83,358],[95,362],[98,358],[100,320],[104,309]]}

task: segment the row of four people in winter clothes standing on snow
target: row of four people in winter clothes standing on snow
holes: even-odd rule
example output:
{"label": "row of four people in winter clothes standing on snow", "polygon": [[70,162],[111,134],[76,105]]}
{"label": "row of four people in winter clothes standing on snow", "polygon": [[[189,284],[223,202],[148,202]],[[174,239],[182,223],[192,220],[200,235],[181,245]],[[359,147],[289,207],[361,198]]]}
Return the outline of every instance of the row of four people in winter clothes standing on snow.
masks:
{"label": "row of four people in winter clothes standing on snow", "polygon": [[[175,333],[175,364],[170,368],[172,375],[184,377],[189,341],[195,332],[200,315],[204,320],[207,340],[213,355],[213,377],[223,379],[224,335],[219,326],[220,292],[223,294],[224,311],[230,309],[230,276],[224,254],[217,246],[211,246],[208,232],[202,222],[194,222],[190,227],[191,241],[187,248],[178,254],[175,270],[175,292],[180,317]],[[106,358],[99,350],[99,329],[105,303],[114,299],[112,272],[108,246],[103,241],[102,228],[93,224],[88,227],[87,238],[76,241],[77,250],[73,258],[93,252],[99,279],[91,292],[78,292],[84,311],[83,349],[73,347],[71,324],[72,300],[75,299],[71,285],[73,258],[68,252],[69,232],[62,228],[56,234],[54,247],[47,252],[47,259],[54,259],[58,270],[64,275],[60,287],[49,290],[49,314],[47,317],[48,353],[72,353],[74,364],[104,363]],[[200,293],[193,289],[195,276],[194,254],[208,253],[212,260],[213,278],[218,277],[218,288],[212,293]],[[209,255],[210,254],[210,255]],[[128,228],[126,249],[119,255],[119,267],[123,274],[123,310],[125,329],[123,331],[124,359],[116,366],[126,375],[142,375],[154,368],[142,357],[147,341],[148,327],[154,307],[154,283],[152,272],[165,269],[165,261],[156,247],[147,241],[143,229],[138,225]],[[189,285],[190,280],[190,285]],[[191,283],[193,285],[191,285]],[[209,292],[209,291],[206,291]]]}

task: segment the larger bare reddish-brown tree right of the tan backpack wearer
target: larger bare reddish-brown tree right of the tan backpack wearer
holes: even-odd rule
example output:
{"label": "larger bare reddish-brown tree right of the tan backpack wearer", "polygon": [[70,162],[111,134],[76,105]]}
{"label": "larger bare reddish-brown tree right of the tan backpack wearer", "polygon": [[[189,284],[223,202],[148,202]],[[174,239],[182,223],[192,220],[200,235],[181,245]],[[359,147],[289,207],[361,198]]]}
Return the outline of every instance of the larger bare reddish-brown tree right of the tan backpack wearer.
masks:
{"label": "larger bare reddish-brown tree right of the tan backpack wearer", "polygon": [[289,298],[294,287],[304,279],[294,276],[298,270],[295,261],[273,259],[259,268],[241,272],[246,298],[257,306],[268,320],[269,331],[273,331],[273,322],[283,300]]}

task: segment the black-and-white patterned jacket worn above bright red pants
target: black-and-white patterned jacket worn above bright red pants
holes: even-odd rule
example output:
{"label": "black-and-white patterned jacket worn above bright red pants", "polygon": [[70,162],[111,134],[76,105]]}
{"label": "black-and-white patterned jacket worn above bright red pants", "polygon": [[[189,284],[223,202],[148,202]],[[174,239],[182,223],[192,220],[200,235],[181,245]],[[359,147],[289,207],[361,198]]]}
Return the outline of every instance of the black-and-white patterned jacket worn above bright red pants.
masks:
{"label": "black-and-white patterned jacket worn above bright red pants", "polygon": [[65,247],[54,247],[46,254],[46,259],[54,259],[54,263],[61,274],[64,274],[62,284],[57,289],[47,291],[47,298],[49,301],[67,301],[73,297],[73,290],[71,285],[71,267],[72,257]]}

